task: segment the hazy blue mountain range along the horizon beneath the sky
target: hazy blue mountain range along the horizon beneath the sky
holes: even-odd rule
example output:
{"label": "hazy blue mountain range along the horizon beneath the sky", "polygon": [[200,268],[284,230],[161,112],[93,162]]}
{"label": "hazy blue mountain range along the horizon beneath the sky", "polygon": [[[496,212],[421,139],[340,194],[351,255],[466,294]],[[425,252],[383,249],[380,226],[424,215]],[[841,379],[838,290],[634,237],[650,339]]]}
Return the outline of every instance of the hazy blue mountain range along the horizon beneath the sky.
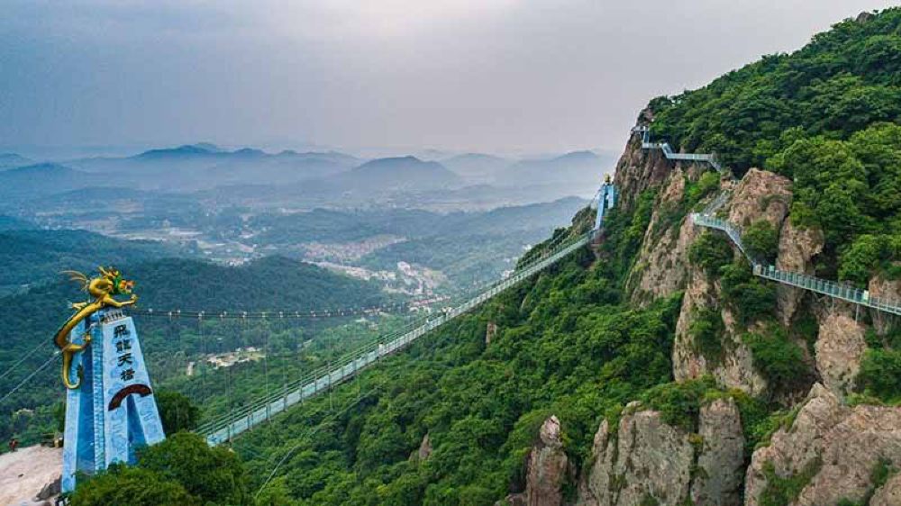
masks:
{"label": "hazy blue mountain range along the horizon beneath the sky", "polygon": [[[210,143],[150,149],[124,158],[78,158],[31,163],[12,153],[0,155],[0,198],[22,199],[86,187],[131,187],[175,193],[231,188],[252,200],[270,196],[334,199],[382,198],[398,194],[449,191],[468,185],[521,190],[537,188],[547,199],[586,194],[610,158],[591,151],[557,158],[512,160],[469,153],[440,161],[413,156],[361,160],[336,152],[222,149]],[[20,165],[23,164],[23,165]]]}

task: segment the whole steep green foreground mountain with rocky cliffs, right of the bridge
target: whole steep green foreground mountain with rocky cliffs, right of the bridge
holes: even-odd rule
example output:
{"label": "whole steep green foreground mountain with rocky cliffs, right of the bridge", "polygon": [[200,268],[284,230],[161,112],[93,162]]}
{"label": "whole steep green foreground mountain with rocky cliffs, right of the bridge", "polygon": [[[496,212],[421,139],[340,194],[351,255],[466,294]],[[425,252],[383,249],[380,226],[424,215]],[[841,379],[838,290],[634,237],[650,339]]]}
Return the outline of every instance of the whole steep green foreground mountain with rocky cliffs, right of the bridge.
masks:
{"label": "whole steep green foreground mountain with rocky cliffs, right of the bridge", "polygon": [[[187,440],[128,483],[185,503],[896,504],[896,319],[755,276],[748,257],[901,301],[899,33],[901,9],[861,14],[654,99],[638,124],[723,173],[633,136],[596,248],[238,438],[243,466],[216,456],[224,489],[184,471],[173,447],[202,446]],[[715,202],[745,251],[692,221]],[[111,482],[75,501],[115,497]]]}

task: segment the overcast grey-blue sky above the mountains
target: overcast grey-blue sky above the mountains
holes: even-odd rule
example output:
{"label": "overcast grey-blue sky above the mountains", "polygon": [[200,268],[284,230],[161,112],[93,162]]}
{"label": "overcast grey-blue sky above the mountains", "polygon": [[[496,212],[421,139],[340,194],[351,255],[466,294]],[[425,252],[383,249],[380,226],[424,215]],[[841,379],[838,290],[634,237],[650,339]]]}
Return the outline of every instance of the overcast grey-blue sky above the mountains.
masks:
{"label": "overcast grey-blue sky above the mountains", "polygon": [[619,151],[875,0],[0,0],[0,150]]}

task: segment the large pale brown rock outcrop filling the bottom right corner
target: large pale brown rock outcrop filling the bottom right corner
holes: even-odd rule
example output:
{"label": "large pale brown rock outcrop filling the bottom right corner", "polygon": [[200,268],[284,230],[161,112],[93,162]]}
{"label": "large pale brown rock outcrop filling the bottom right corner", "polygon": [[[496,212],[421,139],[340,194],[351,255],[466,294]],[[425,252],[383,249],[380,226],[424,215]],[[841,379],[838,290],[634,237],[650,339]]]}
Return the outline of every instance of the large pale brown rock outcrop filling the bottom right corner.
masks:
{"label": "large pale brown rock outcrop filling the bottom right corner", "polygon": [[[745,504],[760,504],[760,494],[769,484],[764,473],[767,463],[783,478],[804,470],[815,472],[792,504],[860,501],[872,486],[872,470],[883,458],[901,462],[901,408],[850,408],[822,384],[815,384],[791,427],[779,429],[769,447],[754,452],[745,478]],[[896,493],[896,483],[888,486],[883,487],[880,501]]]}

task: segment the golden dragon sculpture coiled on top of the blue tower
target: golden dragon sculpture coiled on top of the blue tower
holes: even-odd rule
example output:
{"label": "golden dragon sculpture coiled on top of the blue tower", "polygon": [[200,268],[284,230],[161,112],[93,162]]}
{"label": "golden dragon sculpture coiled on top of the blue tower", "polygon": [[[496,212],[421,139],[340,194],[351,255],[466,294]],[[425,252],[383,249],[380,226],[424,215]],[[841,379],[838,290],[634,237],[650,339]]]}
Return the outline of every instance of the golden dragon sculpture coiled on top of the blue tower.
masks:
{"label": "golden dragon sculpture coiled on top of the blue tower", "polygon": [[[104,268],[98,267],[100,276],[88,279],[87,276],[77,271],[63,271],[62,274],[68,275],[72,281],[81,284],[81,289],[89,294],[92,299],[86,303],[74,303],[72,309],[76,310],[69,319],[63,323],[62,327],[57,330],[53,342],[62,352],[62,382],[67,388],[78,388],[81,384],[81,371],[78,371],[77,383],[72,383],[69,378],[69,369],[72,366],[72,358],[79,351],[86,348],[91,343],[90,333],[85,334],[85,343],[76,344],[68,340],[69,333],[74,330],[79,323],[95,312],[105,307],[121,308],[136,303],[138,296],[132,294],[134,282],[123,279],[122,274],[114,267]],[[132,295],[128,301],[117,301],[114,295]]]}

